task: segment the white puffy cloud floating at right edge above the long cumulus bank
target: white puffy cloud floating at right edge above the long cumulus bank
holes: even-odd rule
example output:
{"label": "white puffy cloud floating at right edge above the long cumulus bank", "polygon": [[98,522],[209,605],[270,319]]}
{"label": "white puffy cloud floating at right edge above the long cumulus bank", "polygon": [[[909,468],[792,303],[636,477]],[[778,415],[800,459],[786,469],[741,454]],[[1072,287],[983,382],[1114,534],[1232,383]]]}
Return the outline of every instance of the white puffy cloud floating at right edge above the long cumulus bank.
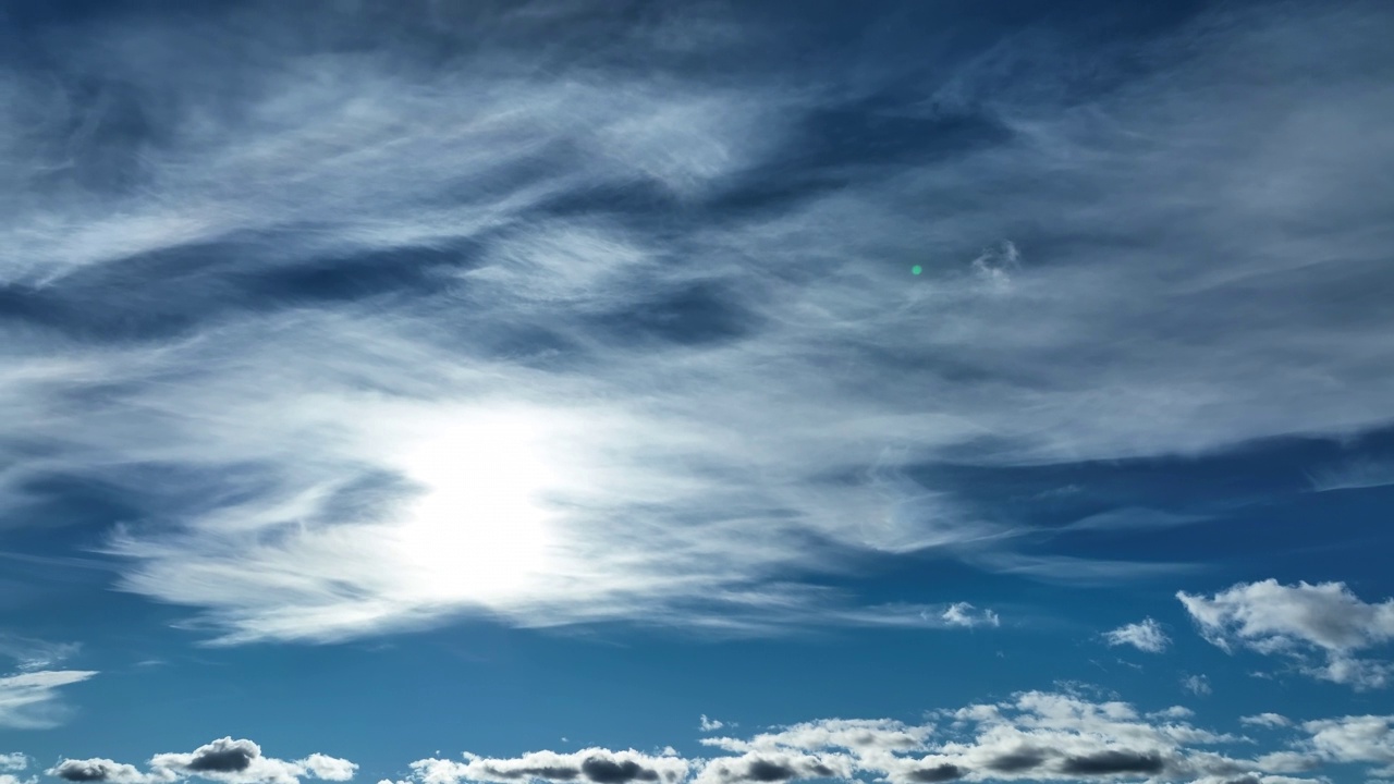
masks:
{"label": "white puffy cloud floating at right edge above the long cumulus bank", "polygon": [[[1185,591],[1177,598],[1200,633],[1227,651],[1285,654],[1308,675],[1356,689],[1384,686],[1394,675],[1386,661],[1354,656],[1394,639],[1394,600],[1368,604],[1345,583],[1285,586],[1273,579],[1241,583],[1210,598]],[[1312,654],[1323,656],[1324,664],[1312,663]]]}

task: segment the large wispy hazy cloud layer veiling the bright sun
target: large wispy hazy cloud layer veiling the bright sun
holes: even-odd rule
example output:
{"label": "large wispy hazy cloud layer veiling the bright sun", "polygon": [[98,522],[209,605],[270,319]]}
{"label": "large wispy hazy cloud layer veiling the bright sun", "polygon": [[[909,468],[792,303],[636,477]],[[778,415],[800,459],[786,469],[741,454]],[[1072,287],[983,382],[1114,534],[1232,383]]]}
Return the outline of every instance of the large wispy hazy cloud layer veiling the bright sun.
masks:
{"label": "large wispy hazy cloud layer veiling the bright sun", "polygon": [[995,625],[811,583],[928,548],[1164,575],[1040,548],[934,467],[1394,421],[1383,4],[923,70],[781,57],[807,42],[736,7],[551,10],[36,42],[61,67],[0,80],[0,513],[110,488],[118,587],[224,643]]}

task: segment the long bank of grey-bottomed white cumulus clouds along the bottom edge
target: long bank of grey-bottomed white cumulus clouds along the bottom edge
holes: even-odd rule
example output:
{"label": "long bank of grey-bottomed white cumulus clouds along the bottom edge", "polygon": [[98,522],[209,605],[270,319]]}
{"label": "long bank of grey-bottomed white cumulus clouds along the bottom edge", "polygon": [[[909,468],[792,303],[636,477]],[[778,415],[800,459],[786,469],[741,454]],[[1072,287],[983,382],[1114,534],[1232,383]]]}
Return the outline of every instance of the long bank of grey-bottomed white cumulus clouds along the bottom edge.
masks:
{"label": "long bank of grey-bottomed white cumulus clouds along the bottom edge", "polygon": [[[1117,781],[1292,784],[1326,763],[1383,764],[1387,724],[1347,717],[1303,725],[1310,738],[1257,757],[1243,737],[1186,721],[1177,707],[1143,714],[1129,703],[1073,693],[1025,692],[995,703],[927,714],[924,724],[889,718],[827,718],[756,735],[704,738],[725,756],[654,757],[634,751],[531,752],[464,762],[424,759],[410,781],[664,781],[676,784],[788,783],[874,777],[894,784],[940,781]],[[665,762],[666,760],[666,762]],[[590,764],[590,770],[588,770]],[[662,767],[666,764],[666,767]],[[597,773],[601,773],[597,776]]]}

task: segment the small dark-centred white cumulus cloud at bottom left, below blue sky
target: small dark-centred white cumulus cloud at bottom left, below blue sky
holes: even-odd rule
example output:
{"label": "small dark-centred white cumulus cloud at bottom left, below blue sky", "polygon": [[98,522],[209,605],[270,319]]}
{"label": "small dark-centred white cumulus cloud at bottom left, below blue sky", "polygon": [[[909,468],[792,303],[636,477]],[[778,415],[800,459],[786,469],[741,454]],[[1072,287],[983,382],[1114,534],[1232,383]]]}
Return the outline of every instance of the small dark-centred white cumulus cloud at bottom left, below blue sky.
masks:
{"label": "small dark-centred white cumulus cloud at bottom left, below blue sky", "polygon": [[109,784],[164,784],[195,776],[224,784],[298,784],[301,777],[348,781],[358,766],[346,759],[312,753],[289,762],[262,755],[248,739],[219,738],[188,753],[159,753],[149,770],[109,759],[67,759],[47,770],[66,781]]}

